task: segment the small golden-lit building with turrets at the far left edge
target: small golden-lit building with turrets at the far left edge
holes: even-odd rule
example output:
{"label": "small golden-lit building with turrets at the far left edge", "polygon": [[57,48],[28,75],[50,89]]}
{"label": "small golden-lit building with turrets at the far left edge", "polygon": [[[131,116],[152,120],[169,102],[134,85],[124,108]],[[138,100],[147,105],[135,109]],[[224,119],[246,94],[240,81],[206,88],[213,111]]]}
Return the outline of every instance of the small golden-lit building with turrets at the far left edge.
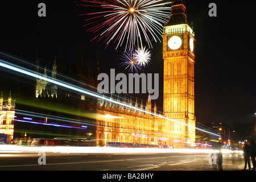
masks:
{"label": "small golden-lit building with turrets at the far left edge", "polygon": [[11,93],[8,101],[3,100],[3,94],[0,98],[0,134],[7,134],[9,142],[13,139],[14,133],[14,115],[15,102],[11,101]]}

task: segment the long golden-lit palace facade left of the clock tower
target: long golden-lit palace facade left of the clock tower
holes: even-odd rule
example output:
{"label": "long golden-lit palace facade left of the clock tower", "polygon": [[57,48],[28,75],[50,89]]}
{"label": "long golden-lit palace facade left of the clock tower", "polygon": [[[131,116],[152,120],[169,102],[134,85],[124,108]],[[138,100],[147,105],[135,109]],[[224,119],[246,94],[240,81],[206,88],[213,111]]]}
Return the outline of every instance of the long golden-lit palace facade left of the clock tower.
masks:
{"label": "long golden-lit palace facade left of the clock tower", "polygon": [[[117,101],[120,101],[119,96]],[[126,98],[122,102],[139,109],[151,110],[150,98],[146,106],[143,106],[143,103],[138,104],[137,101],[133,105],[131,100],[126,102]],[[155,115],[104,100],[99,100],[97,113],[101,114],[101,117],[96,120],[96,144],[98,146],[105,146],[107,141],[152,145],[170,144],[166,142],[163,119]],[[154,113],[156,114],[156,106],[154,106]]]}

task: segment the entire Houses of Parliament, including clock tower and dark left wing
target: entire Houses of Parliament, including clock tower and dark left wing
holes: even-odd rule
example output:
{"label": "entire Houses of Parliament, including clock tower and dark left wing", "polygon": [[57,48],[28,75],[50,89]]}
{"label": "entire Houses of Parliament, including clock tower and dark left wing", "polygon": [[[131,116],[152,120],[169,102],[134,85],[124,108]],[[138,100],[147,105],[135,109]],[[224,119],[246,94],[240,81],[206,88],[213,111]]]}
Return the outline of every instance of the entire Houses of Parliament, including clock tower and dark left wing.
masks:
{"label": "entire Houses of Parliament, including clock tower and dark left wing", "polygon": [[[18,85],[16,109],[27,110],[31,113],[42,113],[46,117],[44,122],[64,123],[81,127],[86,130],[61,130],[59,127],[39,126],[16,122],[14,125],[20,137],[26,131],[28,135],[38,135],[42,130],[44,137],[78,137],[90,138],[94,146],[108,146],[109,143],[125,145],[142,144],[143,146],[174,146],[182,148],[195,144],[195,34],[188,22],[186,6],[183,0],[173,0],[170,19],[164,24],[163,30],[163,112],[158,108],[150,96],[143,104],[137,98],[133,100],[127,95],[105,96],[104,100],[81,93],[74,93],[61,86],[36,79],[23,80]],[[95,55],[94,70],[90,69],[89,61],[85,59],[80,50],[76,64],[69,64],[64,69],[64,54],[53,59],[52,71],[47,72],[40,68],[38,55],[35,60],[35,72],[41,72],[52,79],[60,79],[71,84],[97,93],[97,75],[100,73],[100,60]],[[58,63],[58,64],[57,64]],[[85,66],[86,65],[86,66]],[[60,75],[63,75],[60,78]],[[25,82],[25,83],[24,83]],[[26,89],[25,89],[26,88]],[[27,88],[31,88],[28,92]],[[160,89],[161,90],[161,89]],[[20,98],[20,100],[19,100]],[[111,102],[115,100],[126,104],[125,106]],[[129,106],[147,111],[136,110]],[[149,114],[152,113],[152,114]],[[51,116],[70,118],[71,122],[60,119],[51,121]],[[38,119],[39,120],[39,119]],[[42,120],[42,119],[40,119]],[[84,124],[81,124],[84,123]],[[39,133],[40,131],[40,133]]]}

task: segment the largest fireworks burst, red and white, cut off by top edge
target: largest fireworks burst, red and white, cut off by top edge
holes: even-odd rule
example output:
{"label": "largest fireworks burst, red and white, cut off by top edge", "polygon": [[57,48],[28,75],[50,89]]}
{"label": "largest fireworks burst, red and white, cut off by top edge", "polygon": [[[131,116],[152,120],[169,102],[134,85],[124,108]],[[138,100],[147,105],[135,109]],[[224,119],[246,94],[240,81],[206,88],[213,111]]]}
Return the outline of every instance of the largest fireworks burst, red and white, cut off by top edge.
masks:
{"label": "largest fireworks burst, red and white, cut off by top edge", "polygon": [[81,6],[104,9],[96,13],[81,14],[94,16],[86,19],[88,23],[84,26],[96,24],[88,29],[97,33],[93,39],[98,39],[97,42],[105,39],[106,47],[114,41],[117,43],[115,49],[125,42],[125,49],[133,49],[133,46],[142,47],[143,41],[152,48],[152,40],[157,42],[158,39],[160,42],[158,36],[162,36],[164,20],[170,16],[171,10],[171,7],[166,7],[171,1],[164,3],[163,0],[82,0],[82,2],[86,4]]}

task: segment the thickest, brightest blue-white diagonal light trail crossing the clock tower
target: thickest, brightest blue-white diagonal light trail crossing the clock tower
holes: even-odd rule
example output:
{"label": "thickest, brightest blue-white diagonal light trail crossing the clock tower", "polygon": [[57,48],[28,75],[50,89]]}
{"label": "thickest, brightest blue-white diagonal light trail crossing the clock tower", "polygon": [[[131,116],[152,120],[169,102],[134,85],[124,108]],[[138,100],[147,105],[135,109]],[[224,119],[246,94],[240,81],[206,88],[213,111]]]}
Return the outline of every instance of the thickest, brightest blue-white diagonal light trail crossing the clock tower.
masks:
{"label": "thickest, brightest blue-white diagonal light trail crossing the clock tower", "polygon": [[72,84],[68,84],[67,82],[64,82],[64,81],[61,81],[61,80],[58,80],[58,79],[52,79],[52,78],[49,78],[49,77],[41,76],[42,74],[36,73],[36,72],[31,71],[31,70],[26,69],[26,68],[22,68],[22,67],[20,67],[18,65],[14,65],[14,64],[8,63],[8,62],[6,62],[6,61],[4,61],[2,59],[0,59],[0,67],[7,68],[7,69],[10,69],[10,70],[18,72],[18,73],[22,73],[22,74],[27,75],[27,76],[39,78],[41,80],[48,81],[48,82],[51,82],[51,83],[59,85],[59,86],[63,86],[64,88],[67,88],[67,89],[70,89],[70,90],[73,90],[73,91],[76,91],[76,92],[79,92],[79,93],[84,93],[84,94],[92,96],[92,97],[100,98],[102,100],[106,100],[106,101],[112,102],[114,104],[122,105],[122,106],[125,106],[125,107],[130,107],[131,109],[135,109],[135,110],[141,111],[143,113],[155,115],[156,117],[167,119],[168,121],[176,122],[176,123],[179,123],[181,125],[188,126],[188,127],[192,127],[193,129],[203,131],[204,133],[209,133],[209,134],[212,134],[212,135],[216,135],[217,137],[221,137],[221,135],[218,135],[218,134],[215,134],[215,133],[212,133],[212,132],[209,132],[209,131],[205,131],[205,130],[199,129],[199,128],[195,127],[195,126],[187,125],[185,123],[176,121],[174,119],[167,118],[167,117],[165,117],[163,115],[158,115],[158,114],[155,114],[155,113],[143,110],[143,109],[139,109],[139,108],[137,108],[135,106],[130,106],[130,105],[127,105],[127,104],[123,104],[122,102],[111,100],[110,98],[107,98],[107,97],[104,97],[104,96],[100,96],[97,93],[88,91],[86,89],[82,89],[82,88],[80,88],[78,86],[75,86],[75,85],[72,85]]}

